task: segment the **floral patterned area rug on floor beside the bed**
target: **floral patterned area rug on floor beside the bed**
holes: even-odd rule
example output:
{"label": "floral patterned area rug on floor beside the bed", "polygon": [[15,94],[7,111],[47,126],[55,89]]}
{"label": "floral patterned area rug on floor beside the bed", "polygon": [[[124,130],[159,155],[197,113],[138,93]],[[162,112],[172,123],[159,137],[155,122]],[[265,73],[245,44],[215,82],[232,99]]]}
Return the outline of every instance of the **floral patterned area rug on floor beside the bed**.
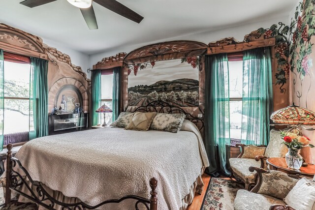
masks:
{"label": "floral patterned area rug on floor beside the bed", "polygon": [[200,210],[234,210],[234,199],[239,189],[244,189],[242,183],[211,178]]}

